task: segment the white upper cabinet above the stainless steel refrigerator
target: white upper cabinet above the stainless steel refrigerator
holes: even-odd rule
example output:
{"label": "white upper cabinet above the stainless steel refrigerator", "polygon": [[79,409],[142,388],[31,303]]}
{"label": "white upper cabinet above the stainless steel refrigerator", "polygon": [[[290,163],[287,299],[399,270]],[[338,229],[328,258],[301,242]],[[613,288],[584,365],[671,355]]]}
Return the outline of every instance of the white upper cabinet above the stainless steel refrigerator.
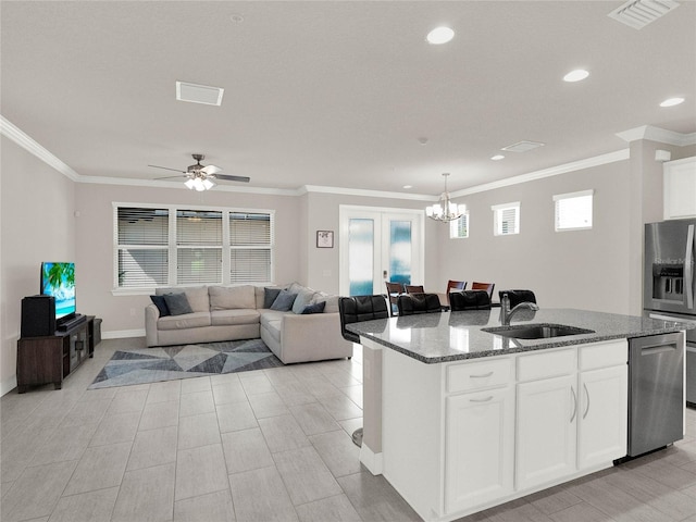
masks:
{"label": "white upper cabinet above the stainless steel refrigerator", "polygon": [[696,216],[696,157],[668,161],[662,169],[664,219]]}

